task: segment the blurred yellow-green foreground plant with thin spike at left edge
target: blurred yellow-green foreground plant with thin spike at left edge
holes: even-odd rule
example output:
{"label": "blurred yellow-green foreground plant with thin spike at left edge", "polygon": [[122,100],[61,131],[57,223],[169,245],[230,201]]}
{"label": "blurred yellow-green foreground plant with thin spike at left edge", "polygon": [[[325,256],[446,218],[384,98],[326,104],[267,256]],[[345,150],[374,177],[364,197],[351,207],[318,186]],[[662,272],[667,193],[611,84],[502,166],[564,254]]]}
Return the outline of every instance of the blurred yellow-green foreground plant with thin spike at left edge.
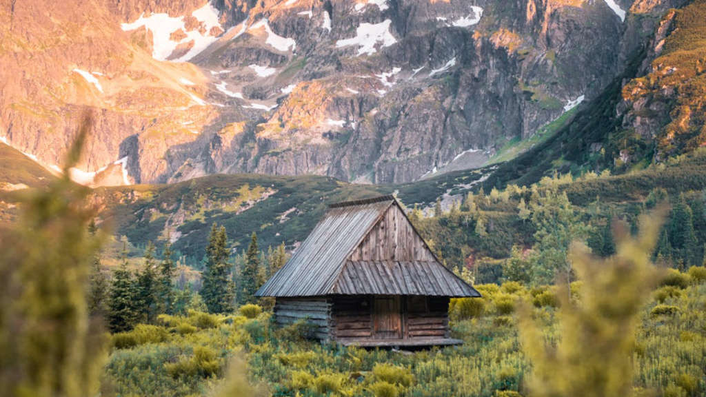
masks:
{"label": "blurred yellow-green foreground plant with thin spike at left edge", "polygon": [[22,215],[0,232],[0,390],[4,396],[95,395],[103,362],[100,319],[86,290],[100,236],[88,224],[88,189],[68,171],[91,119],[85,114],[64,176],[23,196]]}

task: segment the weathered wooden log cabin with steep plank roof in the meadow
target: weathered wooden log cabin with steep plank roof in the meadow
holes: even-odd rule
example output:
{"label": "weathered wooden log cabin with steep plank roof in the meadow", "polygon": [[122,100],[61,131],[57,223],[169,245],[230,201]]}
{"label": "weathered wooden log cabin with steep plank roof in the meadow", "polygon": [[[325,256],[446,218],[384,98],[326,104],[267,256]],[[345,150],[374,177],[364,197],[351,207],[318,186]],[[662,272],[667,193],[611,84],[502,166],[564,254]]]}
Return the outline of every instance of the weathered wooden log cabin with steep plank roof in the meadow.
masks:
{"label": "weathered wooden log cabin with steep plank roof in the meadow", "polygon": [[306,319],[316,338],[360,346],[454,345],[451,297],[480,297],[439,263],[393,196],[329,207],[257,296],[279,325]]}

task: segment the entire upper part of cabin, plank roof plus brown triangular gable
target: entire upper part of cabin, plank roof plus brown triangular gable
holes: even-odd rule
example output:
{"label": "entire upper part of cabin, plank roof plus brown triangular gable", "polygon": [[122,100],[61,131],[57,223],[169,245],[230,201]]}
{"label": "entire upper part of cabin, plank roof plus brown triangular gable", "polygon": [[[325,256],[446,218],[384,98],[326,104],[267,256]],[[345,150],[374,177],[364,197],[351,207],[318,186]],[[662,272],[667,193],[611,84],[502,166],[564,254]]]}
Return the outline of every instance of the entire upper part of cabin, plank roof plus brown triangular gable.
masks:
{"label": "entire upper part of cabin, plank roof plus brown triangular gable", "polygon": [[480,296],[439,263],[393,196],[331,205],[256,293],[331,294]]}

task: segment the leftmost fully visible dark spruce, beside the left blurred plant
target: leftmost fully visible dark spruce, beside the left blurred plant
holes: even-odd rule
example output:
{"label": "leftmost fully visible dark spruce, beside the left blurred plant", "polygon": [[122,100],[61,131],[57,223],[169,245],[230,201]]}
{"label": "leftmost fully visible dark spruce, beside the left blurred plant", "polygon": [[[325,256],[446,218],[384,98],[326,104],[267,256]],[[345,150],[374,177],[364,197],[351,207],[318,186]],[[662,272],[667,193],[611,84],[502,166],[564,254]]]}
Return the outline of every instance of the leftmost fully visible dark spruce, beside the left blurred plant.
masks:
{"label": "leftmost fully visible dark spruce, beside the left blurred plant", "polygon": [[108,327],[112,332],[130,331],[137,323],[133,275],[127,266],[127,252],[123,248],[123,261],[113,271],[108,301]]}

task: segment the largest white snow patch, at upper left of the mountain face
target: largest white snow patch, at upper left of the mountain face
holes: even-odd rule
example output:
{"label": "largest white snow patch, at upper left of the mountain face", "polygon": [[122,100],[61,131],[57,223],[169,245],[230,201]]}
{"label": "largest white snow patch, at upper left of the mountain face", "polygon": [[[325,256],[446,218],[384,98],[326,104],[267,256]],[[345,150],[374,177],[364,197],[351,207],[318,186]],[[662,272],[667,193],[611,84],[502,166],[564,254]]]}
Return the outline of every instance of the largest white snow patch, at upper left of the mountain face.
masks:
{"label": "largest white snow patch, at upper left of the mountain face", "polygon": [[[150,30],[152,32],[152,57],[160,61],[166,61],[172,52],[177,49],[177,46],[189,42],[193,43],[186,54],[174,59],[177,62],[184,62],[189,61],[189,59],[195,57],[217,40],[217,36],[213,36],[210,33],[213,28],[222,28],[218,22],[218,10],[210,2],[193,11],[191,16],[201,22],[205,33],[202,34],[198,28],[186,31],[184,16],[171,17],[167,13],[152,13],[148,17],[145,17],[143,13],[140,18],[132,23],[122,23],[121,28],[125,31],[142,27]],[[171,35],[177,30],[182,30],[186,37],[179,41],[173,41]]]}

